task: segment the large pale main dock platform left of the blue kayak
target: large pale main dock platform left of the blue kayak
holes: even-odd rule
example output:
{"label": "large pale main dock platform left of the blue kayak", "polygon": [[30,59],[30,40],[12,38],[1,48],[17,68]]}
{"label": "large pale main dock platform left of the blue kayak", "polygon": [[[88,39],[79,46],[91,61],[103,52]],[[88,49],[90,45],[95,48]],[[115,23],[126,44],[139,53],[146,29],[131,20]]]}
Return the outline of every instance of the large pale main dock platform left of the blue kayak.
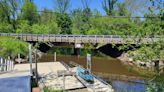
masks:
{"label": "large pale main dock platform left of the blue kayak", "polygon": [[53,89],[80,89],[84,85],[60,62],[38,63],[41,86]]}

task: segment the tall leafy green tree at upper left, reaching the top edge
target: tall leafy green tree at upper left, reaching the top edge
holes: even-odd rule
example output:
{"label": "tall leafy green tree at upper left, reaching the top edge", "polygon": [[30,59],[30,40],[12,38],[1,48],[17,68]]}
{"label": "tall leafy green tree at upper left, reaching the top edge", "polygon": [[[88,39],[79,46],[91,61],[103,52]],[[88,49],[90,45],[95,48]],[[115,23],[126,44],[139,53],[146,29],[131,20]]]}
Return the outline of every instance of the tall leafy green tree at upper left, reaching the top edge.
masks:
{"label": "tall leafy green tree at upper left, reaching the top edge", "polygon": [[26,0],[22,7],[20,18],[22,20],[28,20],[30,25],[37,23],[38,13],[36,5],[33,2]]}

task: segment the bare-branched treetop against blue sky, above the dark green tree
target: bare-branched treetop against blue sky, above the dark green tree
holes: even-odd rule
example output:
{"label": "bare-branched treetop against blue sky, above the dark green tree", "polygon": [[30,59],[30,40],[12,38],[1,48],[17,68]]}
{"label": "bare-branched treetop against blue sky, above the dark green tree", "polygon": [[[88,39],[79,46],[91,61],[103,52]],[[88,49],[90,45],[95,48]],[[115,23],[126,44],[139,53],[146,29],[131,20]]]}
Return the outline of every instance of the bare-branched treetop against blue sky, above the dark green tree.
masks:
{"label": "bare-branched treetop against blue sky, above the dark green tree", "polygon": [[66,13],[70,8],[70,0],[54,0],[55,1],[55,9],[59,13]]}

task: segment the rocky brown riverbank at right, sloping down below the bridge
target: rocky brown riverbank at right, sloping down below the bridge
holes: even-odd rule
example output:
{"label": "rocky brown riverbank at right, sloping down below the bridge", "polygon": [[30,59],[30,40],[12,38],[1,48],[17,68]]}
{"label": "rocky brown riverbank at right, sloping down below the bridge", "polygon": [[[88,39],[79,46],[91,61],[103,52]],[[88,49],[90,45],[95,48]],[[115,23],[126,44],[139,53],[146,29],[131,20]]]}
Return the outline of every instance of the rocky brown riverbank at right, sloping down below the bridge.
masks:
{"label": "rocky brown riverbank at right, sloping down below the bridge", "polygon": [[[164,72],[159,74],[160,71],[156,70],[157,68],[155,67],[155,62],[134,61],[134,59],[129,57],[127,54],[123,54],[118,57],[118,59],[122,62],[122,64],[124,64],[125,67],[127,67],[127,69],[138,72],[142,77],[159,82],[164,81]],[[159,67],[163,65],[164,63],[160,63]]]}

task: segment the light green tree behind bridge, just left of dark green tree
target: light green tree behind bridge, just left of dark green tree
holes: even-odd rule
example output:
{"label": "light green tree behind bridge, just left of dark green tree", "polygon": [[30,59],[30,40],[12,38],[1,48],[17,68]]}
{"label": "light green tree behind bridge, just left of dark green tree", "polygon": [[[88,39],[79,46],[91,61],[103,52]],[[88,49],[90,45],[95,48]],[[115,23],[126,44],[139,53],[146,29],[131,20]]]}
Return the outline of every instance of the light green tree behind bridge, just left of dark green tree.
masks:
{"label": "light green tree behind bridge, just left of dark green tree", "polygon": [[32,26],[32,31],[38,34],[59,34],[60,28],[57,24],[56,14],[44,8],[40,14],[40,23]]}

